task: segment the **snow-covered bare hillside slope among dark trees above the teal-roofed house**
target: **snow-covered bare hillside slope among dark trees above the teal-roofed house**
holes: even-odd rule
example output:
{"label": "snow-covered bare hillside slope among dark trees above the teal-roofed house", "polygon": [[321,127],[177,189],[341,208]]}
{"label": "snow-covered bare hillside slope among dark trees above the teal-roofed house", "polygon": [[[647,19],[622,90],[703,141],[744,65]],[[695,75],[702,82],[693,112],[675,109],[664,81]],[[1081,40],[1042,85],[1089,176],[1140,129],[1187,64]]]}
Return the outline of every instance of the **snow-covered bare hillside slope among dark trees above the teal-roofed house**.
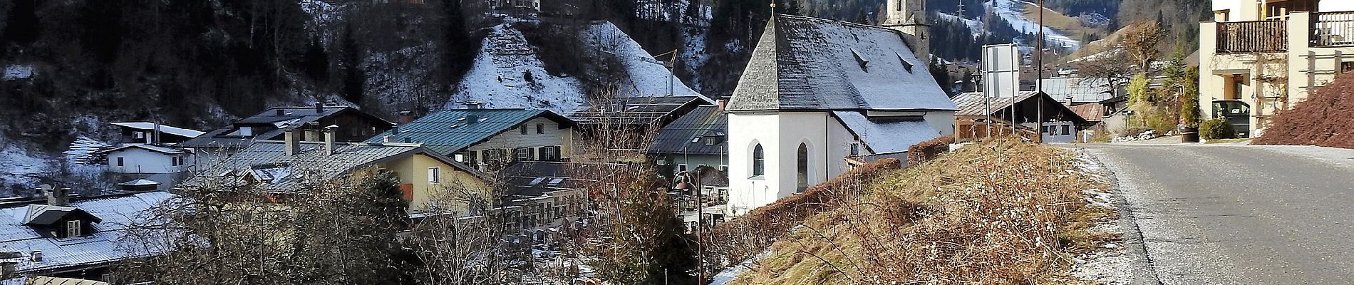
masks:
{"label": "snow-covered bare hillside slope among dark trees above the teal-roofed house", "polygon": [[[668,96],[669,82],[673,95],[697,95],[615,24],[588,26],[580,36],[586,42],[586,50],[615,54],[626,66],[628,80],[619,82],[619,96]],[[570,74],[556,77],[547,73],[535,47],[510,24],[494,26],[482,45],[474,66],[456,85],[445,108],[460,108],[467,100],[478,100],[489,103],[489,108],[535,108],[569,115],[586,101],[582,81]],[[580,55],[575,63],[596,63]]]}

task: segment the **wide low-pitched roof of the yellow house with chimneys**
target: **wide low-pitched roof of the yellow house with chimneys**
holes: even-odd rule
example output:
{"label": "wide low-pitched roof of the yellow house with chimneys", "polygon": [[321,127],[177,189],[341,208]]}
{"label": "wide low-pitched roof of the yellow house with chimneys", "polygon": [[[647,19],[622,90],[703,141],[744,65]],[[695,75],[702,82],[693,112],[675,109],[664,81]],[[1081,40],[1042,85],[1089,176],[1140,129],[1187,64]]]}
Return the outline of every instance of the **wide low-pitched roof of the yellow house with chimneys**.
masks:
{"label": "wide low-pitched roof of the yellow house with chimneys", "polygon": [[420,154],[462,172],[482,176],[470,166],[410,143],[337,143],[334,154],[328,154],[322,143],[314,142],[301,143],[295,155],[287,155],[284,149],[283,142],[257,142],[219,163],[203,169],[200,174],[175,188],[198,188],[206,186],[214,180],[249,177],[260,182],[267,192],[291,193],[302,189],[307,181],[333,180],[368,166]]}

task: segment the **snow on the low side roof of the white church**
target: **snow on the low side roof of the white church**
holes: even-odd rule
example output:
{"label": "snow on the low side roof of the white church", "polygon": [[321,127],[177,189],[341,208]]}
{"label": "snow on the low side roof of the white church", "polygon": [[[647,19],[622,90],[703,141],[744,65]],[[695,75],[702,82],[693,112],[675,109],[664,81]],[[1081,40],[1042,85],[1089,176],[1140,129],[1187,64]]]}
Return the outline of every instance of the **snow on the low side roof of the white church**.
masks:
{"label": "snow on the low side roof of the white church", "polygon": [[907,151],[913,145],[940,136],[940,131],[925,120],[872,122],[854,111],[834,111],[833,115],[875,154]]}

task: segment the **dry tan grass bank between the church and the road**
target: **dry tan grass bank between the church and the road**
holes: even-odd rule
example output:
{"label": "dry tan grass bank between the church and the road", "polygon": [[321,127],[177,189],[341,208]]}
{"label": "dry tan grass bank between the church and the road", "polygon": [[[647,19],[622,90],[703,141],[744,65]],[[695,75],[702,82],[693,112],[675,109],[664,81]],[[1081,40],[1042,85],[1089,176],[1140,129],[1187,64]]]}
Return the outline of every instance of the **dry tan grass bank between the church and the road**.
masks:
{"label": "dry tan grass bank between the church and the road", "polygon": [[1072,154],[982,142],[862,185],[772,244],[734,284],[1076,284],[1071,255],[1116,236]]}

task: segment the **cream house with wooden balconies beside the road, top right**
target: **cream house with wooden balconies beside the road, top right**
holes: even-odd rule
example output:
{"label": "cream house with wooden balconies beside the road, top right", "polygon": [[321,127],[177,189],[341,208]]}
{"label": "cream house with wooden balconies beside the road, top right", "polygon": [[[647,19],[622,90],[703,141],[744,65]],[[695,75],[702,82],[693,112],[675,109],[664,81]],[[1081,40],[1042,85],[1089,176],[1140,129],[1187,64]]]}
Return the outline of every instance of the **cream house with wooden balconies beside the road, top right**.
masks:
{"label": "cream house with wooden balconies beside the road, top right", "polygon": [[1274,115],[1354,70],[1354,1],[1215,0],[1198,36],[1200,113],[1255,136]]}

